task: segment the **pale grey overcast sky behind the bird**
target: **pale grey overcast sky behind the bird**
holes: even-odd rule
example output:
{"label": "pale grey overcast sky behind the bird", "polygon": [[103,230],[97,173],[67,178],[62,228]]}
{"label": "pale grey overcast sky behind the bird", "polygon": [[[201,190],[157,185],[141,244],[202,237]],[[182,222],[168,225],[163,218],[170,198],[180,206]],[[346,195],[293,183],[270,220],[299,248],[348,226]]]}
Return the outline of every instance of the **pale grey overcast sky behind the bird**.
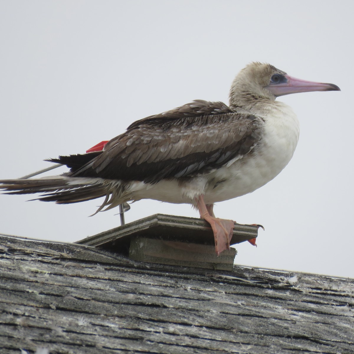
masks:
{"label": "pale grey overcast sky behind the bird", "polygon": [[[227,103],[241,68],[269,62],[342,92],[280,97],[301,124],[293,159],[215,213],[265,227],[258,248],[236,246],[237,264],[354,278],[353,10],[349,1],[1,1],[0,178],[193,99]],[[118,208],[87,217],[101,201],[28,199],[0,196],[0,233],[73,242],[119,225]],[[155,213],[198,217],[151,200],[125,217]]]}

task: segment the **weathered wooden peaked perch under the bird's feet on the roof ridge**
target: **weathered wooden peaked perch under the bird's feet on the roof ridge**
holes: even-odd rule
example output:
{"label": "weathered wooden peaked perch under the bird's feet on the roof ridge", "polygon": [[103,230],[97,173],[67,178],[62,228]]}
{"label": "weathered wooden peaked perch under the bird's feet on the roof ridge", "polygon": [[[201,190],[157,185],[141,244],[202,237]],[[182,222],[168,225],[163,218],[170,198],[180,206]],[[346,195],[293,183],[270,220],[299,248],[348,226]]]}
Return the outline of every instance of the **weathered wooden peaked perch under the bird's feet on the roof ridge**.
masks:
{"label": "weathered wooden peaked perch under the bird's feet on the roof ridge", "polygon": [[[234,226],[231,245],[258,235],[255,225]],[[214,236],[204,220],[155,214],[76,242],[129,255],[135,261],[232,270],[237,251],[215,254]]]}

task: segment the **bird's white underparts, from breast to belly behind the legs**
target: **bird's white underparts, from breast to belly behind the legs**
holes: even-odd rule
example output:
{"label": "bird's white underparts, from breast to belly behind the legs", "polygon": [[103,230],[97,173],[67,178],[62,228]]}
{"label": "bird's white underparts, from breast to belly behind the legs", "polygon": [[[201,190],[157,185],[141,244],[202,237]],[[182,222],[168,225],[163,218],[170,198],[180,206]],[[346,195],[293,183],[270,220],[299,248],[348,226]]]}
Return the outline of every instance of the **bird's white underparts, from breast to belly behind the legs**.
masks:
{"label": "bird's white underparts, from breast to belly behind the legs", "polygon": [[136,182],[135,188],[131,188],[132,199],[194,204],[194,198],[204,194],[206,204],[212,204],[262,187],[289,163],[298,142],[298,120],[290,107],[283,104],[282,108],[278,116],[274,116],[274,112],[270,118],[264,116],[263,137],[252,153],[229,166],[194,177],[188,182],[181,183],[176,179],[163,180],[153,185]]}

